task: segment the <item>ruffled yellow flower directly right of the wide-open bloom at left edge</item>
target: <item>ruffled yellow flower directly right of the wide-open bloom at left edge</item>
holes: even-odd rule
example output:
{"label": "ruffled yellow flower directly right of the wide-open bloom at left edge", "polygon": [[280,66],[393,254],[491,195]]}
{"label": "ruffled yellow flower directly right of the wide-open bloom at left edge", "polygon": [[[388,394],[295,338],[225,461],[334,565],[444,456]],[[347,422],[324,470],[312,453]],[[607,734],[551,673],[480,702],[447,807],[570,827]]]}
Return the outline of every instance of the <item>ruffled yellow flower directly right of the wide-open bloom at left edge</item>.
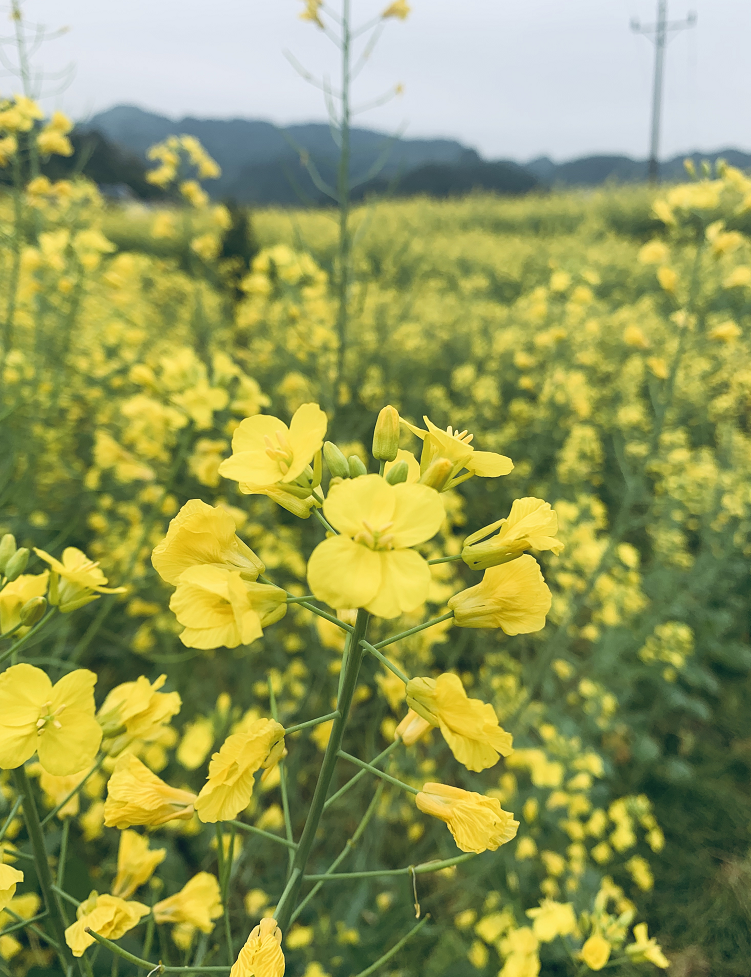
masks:
{"label": "ruffled yellow flower directly right of the wide-open bloom at left edge", "polygon": [[160,692],[166,681],[160,675],[152,684],[145,675],[123,682],[108,694],[97,713],[105,737],[105,750],[117,756],[134,740],[149,742],[180,711],[178,692]]}

